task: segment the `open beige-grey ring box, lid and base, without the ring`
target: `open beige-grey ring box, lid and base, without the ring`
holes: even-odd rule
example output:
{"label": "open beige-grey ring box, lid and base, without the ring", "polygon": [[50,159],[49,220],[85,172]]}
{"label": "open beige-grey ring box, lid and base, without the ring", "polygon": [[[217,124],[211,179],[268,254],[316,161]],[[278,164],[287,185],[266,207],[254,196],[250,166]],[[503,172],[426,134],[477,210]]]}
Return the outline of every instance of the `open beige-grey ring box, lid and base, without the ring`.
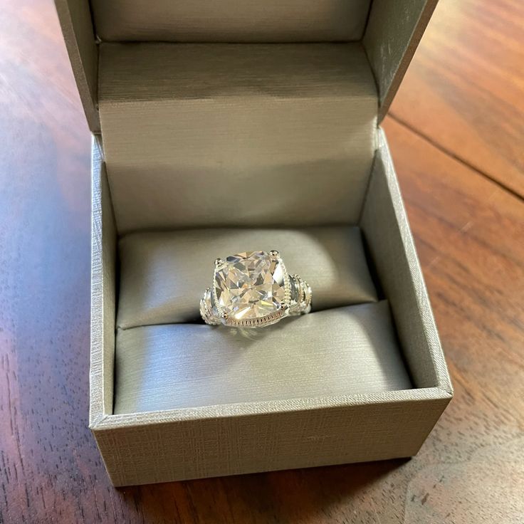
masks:
{"label": "open beige-grey ring box, lid and base, without the ring", "polygon": [[[115,486],[413,456],[452,397],[384,132],[435,1],[56,0],[93,132],[90,428]],[[211,327],[278,249],[313,312]]]}

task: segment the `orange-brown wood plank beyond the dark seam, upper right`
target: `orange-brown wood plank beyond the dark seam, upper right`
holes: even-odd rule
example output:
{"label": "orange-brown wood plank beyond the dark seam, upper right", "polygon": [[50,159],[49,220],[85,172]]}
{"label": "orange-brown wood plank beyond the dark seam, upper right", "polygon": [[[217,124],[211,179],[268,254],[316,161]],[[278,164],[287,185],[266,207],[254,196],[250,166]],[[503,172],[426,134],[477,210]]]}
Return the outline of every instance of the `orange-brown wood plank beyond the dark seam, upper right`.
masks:
{"label": "orange-brown wood plank beyond the dark seam, upper right", "polygon": [[524,2],[440,0],[390,114],[524,196]]}

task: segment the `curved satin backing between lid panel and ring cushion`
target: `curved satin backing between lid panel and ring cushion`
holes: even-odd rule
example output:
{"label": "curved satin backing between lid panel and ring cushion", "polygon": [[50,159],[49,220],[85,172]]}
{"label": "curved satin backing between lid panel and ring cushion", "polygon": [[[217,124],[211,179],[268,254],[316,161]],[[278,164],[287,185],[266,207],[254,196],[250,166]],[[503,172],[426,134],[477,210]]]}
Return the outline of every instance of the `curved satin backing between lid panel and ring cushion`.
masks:
{"label": "curved satin backing between lid panel and ring cushion", "polygon": [[120,233],[356,224],[377,134],[360,43],[103,43]]}

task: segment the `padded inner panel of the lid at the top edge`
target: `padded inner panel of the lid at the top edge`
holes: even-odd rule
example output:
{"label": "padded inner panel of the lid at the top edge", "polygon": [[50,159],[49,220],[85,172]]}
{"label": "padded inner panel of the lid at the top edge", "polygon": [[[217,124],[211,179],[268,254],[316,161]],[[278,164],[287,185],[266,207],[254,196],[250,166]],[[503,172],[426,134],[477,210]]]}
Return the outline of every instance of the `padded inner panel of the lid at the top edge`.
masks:
{"label": "padded inner panel of the lid at the top edge", "polygon": [[91,0],[103,41],[326,42],[362,38],[370,0]]}

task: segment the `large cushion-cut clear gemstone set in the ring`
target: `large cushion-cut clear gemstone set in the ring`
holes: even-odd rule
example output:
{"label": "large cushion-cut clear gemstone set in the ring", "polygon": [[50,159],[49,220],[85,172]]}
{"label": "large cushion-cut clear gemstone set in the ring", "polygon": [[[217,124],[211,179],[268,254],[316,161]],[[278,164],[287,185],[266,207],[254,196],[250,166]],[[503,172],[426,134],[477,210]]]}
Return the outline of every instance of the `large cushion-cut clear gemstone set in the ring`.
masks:
{"label": "large cushion-cut clear gemstone set in the ring", "polygon": [[266,251],[228,256],[224,265],[216,268],[214,286],[224,313],[236,320],[261,318],[282,307],[283,266]]}

